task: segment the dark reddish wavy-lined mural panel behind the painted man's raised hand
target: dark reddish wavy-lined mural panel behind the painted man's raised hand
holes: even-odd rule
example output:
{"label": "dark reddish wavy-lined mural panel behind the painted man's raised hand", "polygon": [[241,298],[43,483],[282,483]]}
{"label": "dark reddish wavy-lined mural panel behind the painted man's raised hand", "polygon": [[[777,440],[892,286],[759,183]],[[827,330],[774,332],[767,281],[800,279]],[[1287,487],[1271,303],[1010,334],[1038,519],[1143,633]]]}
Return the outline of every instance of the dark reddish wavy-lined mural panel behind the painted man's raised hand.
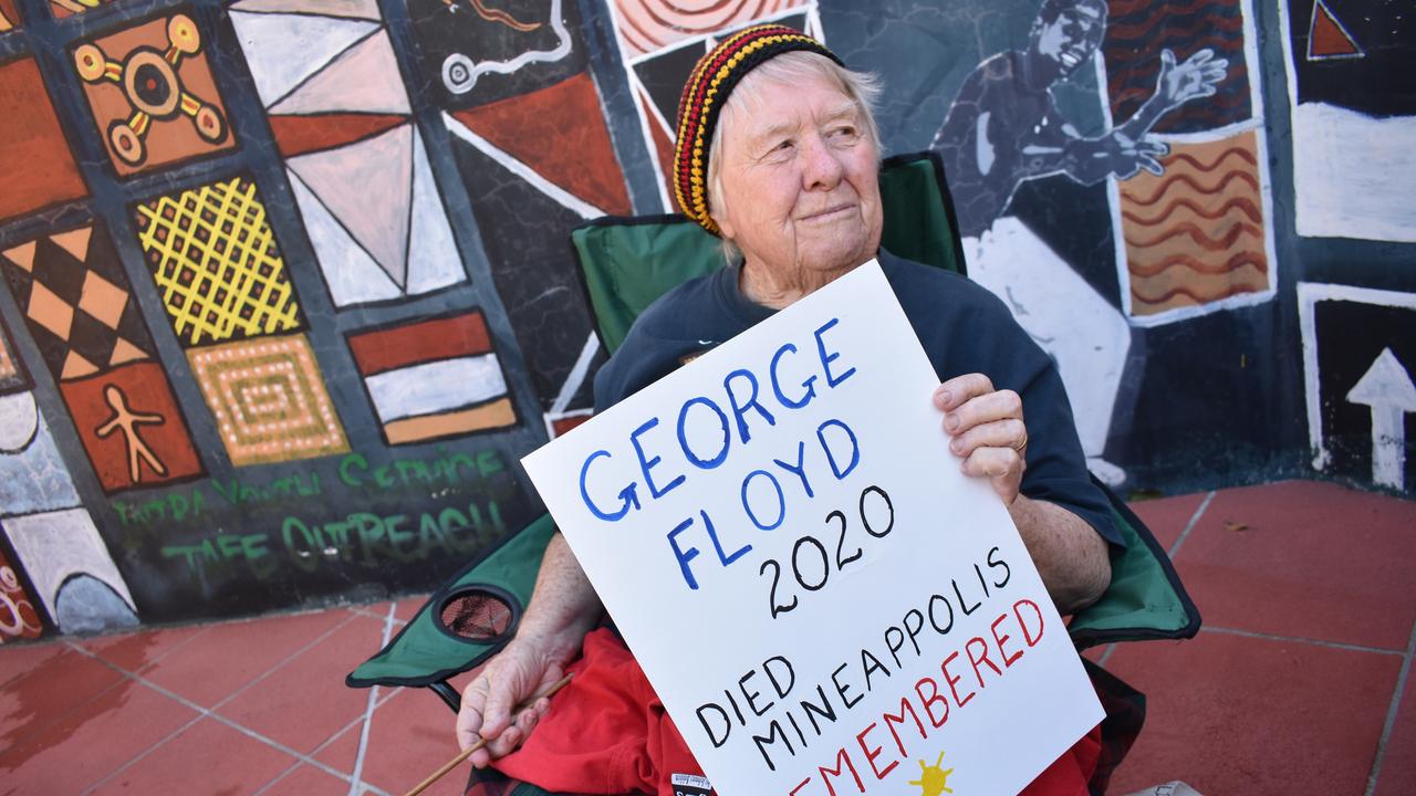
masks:
{"label": "dark reddish wavy-lined mural panel behind the painted man's raised hand", "polygon": [[1242,1],[1112,0],[1102,44],[1112,118],[1130,119],[1155,93],[1161,52],[1167,48],[1181,62],[1209,48],[1215,58],[1226,58],[1229,67],[1214,96],[1192,99],[1171,110],[1155,125],[1155,132],[1197,133],[1252,118]]}

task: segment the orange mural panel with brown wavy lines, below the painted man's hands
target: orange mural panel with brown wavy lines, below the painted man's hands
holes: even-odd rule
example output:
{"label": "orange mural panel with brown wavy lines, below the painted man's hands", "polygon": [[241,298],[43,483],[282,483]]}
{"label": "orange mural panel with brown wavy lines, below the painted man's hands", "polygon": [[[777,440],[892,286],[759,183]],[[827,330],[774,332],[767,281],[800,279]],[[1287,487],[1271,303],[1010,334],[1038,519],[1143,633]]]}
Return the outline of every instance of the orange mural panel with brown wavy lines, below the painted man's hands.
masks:
{"label": "orange mural panel with brown wavy lines, below the painted man's hands", "polygon": [[1120,186],[1131,314],[1267,290],[1256,133],[1172,144],[1161,163]]}

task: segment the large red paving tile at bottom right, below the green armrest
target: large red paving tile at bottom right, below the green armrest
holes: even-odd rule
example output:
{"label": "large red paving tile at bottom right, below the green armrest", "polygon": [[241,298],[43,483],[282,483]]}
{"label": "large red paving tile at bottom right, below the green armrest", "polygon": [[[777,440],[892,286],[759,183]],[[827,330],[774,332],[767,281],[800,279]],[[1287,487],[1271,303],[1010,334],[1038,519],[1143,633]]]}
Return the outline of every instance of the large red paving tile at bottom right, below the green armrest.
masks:
{"label": "large red paving tile at bottom right, below the green armrest", "polygon": [[1147,717],[1110,790],[1182,779],[1205,795],[1362,793],[1400,663],[1215,632],[1120,644],[1107,669],[1147,694]]}

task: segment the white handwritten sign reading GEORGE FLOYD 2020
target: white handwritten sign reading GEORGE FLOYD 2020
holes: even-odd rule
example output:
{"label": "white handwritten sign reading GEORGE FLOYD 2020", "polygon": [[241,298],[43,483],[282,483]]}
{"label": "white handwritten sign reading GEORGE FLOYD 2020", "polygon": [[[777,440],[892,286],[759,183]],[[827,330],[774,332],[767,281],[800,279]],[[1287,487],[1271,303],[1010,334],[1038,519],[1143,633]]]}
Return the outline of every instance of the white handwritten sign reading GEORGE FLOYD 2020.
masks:
{"label": "white handwritten sign reading GEORGE FLOYD 2020", "polygon": [[1012,795],[1102,720],[935,387],[871,262],[524,459],[719,796]]}

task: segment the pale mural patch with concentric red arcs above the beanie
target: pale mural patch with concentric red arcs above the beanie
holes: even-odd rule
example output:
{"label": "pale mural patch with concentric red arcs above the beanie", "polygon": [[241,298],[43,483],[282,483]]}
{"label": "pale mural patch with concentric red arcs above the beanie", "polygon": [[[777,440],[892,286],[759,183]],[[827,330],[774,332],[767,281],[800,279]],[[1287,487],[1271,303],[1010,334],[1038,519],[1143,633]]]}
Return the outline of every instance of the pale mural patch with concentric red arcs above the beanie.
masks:
{"label": "pale mural patch with concentric red arcs above the beanie", "polygon": [[624,55],[633,58],[807,4],[806,0],[615,0],[615,10]]}

